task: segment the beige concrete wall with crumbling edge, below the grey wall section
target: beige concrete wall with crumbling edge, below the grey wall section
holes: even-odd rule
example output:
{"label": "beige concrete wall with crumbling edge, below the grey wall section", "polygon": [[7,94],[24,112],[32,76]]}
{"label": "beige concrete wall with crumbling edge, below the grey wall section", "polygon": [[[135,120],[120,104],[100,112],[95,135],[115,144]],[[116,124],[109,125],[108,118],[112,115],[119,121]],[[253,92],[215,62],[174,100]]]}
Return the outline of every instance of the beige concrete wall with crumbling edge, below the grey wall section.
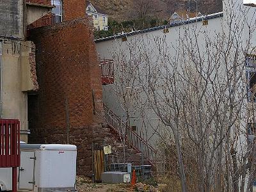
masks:
{"label": "beige concrete wall with crumbling edge, below the grey wall section", "polygon": [[[28,51],[23,52],[24,47],[26,47],[24,43],[19,41],[4,40],[3,43],[3,118],[19,119],[20,139],[27,142],[29,133],[28,94],[23,91],[33,90],[35,86],[31,80]],[[25,48],[25,50],[27,49],[28,47]],[[24,69],[24,66],[26,66],[26,70],[22,72],[21,68]]]}

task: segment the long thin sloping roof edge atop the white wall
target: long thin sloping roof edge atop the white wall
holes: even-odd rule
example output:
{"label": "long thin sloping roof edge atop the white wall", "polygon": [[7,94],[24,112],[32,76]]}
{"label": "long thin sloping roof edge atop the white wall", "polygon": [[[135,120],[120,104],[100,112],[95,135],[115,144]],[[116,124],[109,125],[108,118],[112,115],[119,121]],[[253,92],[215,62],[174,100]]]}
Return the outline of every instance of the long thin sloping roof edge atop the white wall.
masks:
{"label": "long thin sloping roof edge atop the white wall", "polygon": [[143,29],[143,30],[134,31],[134,32],[130,32],[130,33],[124,33],[124,34],[120,34],[120,35],[113,35],[113,36],[108,36],[105,38],[99,38],[99,39],[94,40],[94,42],[95,43],[104,42],[104,41],[113,40],[113,39],[117,39],[117,38],[123,38],[126,36],[133,36],[133,35],[138,35],[141,33],[148,33],[150,31],[157,31],[157,30],[161,30],[161,29],[172,28],[175,26],[181,26],[184,24],[194,23],[194,22],[198,22],[198,21],[202,21],[202,20],[215,19],[218,17],[223,17],[223,12],[213,13],[211,15],[196,17],[196,18],[192,18],[192,19],[188,19],[188,20],[184,20],[184,21],[177,21],[172,24],[168,24],[166,26],[159,26],[156,28]]}

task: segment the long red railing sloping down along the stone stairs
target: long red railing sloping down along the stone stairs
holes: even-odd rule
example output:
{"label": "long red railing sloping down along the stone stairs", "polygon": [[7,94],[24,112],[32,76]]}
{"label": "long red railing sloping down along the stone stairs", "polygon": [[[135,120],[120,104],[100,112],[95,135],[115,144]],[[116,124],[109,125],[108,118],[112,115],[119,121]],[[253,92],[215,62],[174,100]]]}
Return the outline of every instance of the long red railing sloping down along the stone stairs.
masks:
{"label": "long red railing sloping down along the stone stairs", "polygon": [[[127,126],[124,121],[122,121],[118,116],[113,113],[106,105],[104,105],[104,118],[108,125],[116,131],[122,139],[134,149],[143,153],[145,159],[150,161],[152,165],[156,164],[157,150],[154,149],[147,141],[145,141],[141,135],[136,133]],[[125,130],[126,127],[126,130]],[[126,135],[125,135],[126,131]]]}

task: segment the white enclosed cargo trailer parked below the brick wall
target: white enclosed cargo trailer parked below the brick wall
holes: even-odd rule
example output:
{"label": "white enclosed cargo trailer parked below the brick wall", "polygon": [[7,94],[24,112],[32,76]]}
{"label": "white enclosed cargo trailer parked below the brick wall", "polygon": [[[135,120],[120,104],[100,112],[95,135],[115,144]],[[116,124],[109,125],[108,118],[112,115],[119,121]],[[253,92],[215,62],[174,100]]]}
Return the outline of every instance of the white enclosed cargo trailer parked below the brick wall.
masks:
{"label": "white enclosed cargo trailer parked below the brick wall", "polygon": [[[19,191],[76,191],[75,145],[20,144]],[[2,190],[12,190],[12,169],[0,168]]]}

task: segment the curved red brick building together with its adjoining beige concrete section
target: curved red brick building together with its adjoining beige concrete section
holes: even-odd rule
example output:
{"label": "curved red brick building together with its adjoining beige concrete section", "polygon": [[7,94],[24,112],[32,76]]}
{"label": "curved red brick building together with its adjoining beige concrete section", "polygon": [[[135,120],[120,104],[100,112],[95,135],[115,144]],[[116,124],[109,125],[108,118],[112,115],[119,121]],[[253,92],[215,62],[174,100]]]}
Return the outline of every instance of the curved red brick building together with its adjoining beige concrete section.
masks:
{"label": "curved red brick building together with its adjoining beige concrete section", "polygon": [[1,1],[0,111],[20,120],[26,143],[76,145],[77,174],[92,177],[92,145],[102,145],[108,128],[85,12],[78,0]]}

